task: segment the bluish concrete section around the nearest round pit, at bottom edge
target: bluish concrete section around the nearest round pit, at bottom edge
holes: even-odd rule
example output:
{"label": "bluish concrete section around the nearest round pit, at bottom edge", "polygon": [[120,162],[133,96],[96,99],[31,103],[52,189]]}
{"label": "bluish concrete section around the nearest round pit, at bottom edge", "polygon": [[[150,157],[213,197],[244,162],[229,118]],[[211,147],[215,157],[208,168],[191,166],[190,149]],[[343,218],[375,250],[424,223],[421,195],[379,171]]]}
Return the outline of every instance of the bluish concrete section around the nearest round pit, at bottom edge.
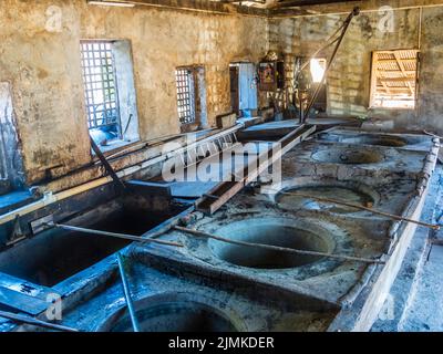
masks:
{"label": "bluish concrete section around the nearest round pit, at bottom edge", "polygon": [[[154,317],[159,324],[151,325],[150,330],[165,331],[162,322],[167,316],[169,321],[174,321],[166,323],[169,329],[177,326],[187,331],[324,331],[334,315],[333,311],[328,313],[301,310],[296,302],[288,299],[286,302],[278,301],[278,293],[264,292],[266,296],[261,300],[253,300],[250,290],[235,283],[214,287],[202,278],[185,273],[175,277],[146,267],[136,256],[126,258],[125,263],[142,329],[143,323],[152,322]],[[90,298],[74,311],[64,314],[64,325],[87,332],[132,331],[122,284],[115,271],[107,287]],[[280,299],[282,298],[284,295]],[[209,312],[209,315],[203,314],[202,309]],[[186,321],[181,312],[187,314]],[[225,319],[229,326],[217,329],[220,320],[215,319],[216,316]]]}

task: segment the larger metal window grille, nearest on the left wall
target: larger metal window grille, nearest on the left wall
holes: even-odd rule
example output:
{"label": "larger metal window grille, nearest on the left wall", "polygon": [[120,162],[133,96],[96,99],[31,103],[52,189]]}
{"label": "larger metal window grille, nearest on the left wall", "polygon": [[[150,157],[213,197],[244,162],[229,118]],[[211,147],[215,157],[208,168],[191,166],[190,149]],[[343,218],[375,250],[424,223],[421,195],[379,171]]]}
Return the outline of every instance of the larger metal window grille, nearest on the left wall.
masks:
{"label": "larger metal window grille, nearest on the left wall", "polygon": [[120,134],[119,95],[112,43],[81,43],[84,92],[90,129],[110,129]]}

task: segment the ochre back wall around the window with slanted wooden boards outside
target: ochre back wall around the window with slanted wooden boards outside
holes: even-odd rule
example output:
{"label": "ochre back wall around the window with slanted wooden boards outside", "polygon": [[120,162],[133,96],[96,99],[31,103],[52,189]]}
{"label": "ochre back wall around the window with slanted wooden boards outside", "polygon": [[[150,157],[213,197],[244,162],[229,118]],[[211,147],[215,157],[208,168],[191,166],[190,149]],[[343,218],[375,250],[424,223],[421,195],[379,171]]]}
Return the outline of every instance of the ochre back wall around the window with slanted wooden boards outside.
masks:
{"label": "ochre back wall around the window with slanted wooden boards outside", "polygon": [[[385,4],[389,4],[387,2]],[[272,19],[270,49],[290,55],[312,55],[339,27],[346,14]],[[349,28],[327,77],[328,112],[393,119],[395,128],[427,128],[443,133],[443,8],[425,8],[420,31],[420,9],[395,10],[393,31],[379,29],[382,14],[364,12]],[[421,33],[420,33],[421,32]],[[419,40],[420,38],[420,40]],[[371,53],[378,50],[418,49],[422,64],[419,111],[369,110]],[[331,49],[320,53],[329,58]]]}

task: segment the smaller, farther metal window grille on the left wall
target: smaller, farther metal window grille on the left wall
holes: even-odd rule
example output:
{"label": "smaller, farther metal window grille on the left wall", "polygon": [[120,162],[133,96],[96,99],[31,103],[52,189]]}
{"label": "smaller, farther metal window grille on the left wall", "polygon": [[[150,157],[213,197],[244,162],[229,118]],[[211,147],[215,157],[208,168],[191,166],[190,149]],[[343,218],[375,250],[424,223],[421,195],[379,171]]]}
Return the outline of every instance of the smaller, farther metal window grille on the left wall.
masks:
{"label": "smaller, farther metal window grille on the left wall", "polygon": [[177,69],[177,107],[178,119],[182,124],[195,122],[195,90],[190,69]]}

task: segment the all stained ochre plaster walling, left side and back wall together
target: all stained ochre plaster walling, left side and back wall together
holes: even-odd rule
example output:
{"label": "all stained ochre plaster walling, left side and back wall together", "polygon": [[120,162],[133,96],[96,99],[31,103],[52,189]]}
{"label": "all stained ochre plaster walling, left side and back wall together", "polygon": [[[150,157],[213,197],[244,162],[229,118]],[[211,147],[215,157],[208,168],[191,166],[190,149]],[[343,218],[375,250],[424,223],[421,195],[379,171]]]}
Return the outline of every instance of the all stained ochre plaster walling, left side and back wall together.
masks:
{"label": "all stained ochre plaster walling, left side and back wall together", "polygon": [[[353,21],[328,77],[329,113],[393,119],[395,127],[443,134],[443,8],[423,9],[421,31],[420,13],[420,9],[395,11],[393,32],[378,29],[377,11]],[[59,176],[91,163],[81,39],[131,42],[140,137],[146,140],[179,133],[176,66],[205,66],[208,124],[214,126],[217,115],[230,111],[229,62],[258,62],[268,49],[287,60],[309,55],[344,17],[266,19],[150,7],[96,7],[83,0],[1,0],[0,82],[11,85],[27,181],[40,183],[51,170]],[[368,110],[371,52],[418,48],[419,38],[418,112]]]}

